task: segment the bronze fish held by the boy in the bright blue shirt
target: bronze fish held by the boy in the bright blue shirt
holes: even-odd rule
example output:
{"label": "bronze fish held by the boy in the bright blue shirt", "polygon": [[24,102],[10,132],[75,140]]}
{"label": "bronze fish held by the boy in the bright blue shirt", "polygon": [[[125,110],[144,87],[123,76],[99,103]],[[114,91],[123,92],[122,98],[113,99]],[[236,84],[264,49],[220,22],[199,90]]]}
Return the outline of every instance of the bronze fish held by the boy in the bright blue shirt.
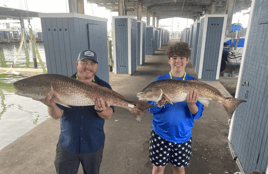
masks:
{"label": "bronze fish held by the boy in the bright blue shirt", "polygon": [[208,107],[208,100],[214,100],[223,105],[228,116],[232,116],[236,107],[245,102],[244,100],[236,98],[225,98],[222,94],[214,87],[199,82],[196,80],[177,80],[177,79],[164,79],[150,83],[143,88],[137,97],[139,100],[159,102],[159,106],[163,106],[163,99],[168,99],[166,103],[177,103],[186,100],[186,96],[191,91],[197,91],[199,94],[199,101]]}

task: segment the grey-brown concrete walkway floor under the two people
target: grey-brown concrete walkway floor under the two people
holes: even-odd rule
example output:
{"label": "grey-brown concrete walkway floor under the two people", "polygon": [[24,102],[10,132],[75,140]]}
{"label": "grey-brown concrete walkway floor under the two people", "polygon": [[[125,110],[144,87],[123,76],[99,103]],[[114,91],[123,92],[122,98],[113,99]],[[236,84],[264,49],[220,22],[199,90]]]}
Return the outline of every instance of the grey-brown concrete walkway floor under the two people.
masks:
{"label": "grey-brown concrete walkway floor under the two people", "polygon": [[[127,100],[137,101],[136,94],[160,75],[169,72],[165,54],[167,46],[146,56],[145,63],[132,75],[110,73],[110,84]],[[188,74],[195,76],[189,64]],[[219,81],[205,81],[224,96],[230,96]],[[106,142],[101,174],[149,174],[149,138],[152,115],[145,112],[142,122],[126,109],[116,107],[112,118],[105,122]],[[223,106],[210,102],[193,128],[192,157],[187,174],[233,174],[239,169],[228,148],[228,117]],[[0,151],[0,174],[53,174],[56,144],[60,133],[59,120],[47,119]],[[82,174],[80,166],[79,174]],[[165,174],[172,173],[168,165]]]}

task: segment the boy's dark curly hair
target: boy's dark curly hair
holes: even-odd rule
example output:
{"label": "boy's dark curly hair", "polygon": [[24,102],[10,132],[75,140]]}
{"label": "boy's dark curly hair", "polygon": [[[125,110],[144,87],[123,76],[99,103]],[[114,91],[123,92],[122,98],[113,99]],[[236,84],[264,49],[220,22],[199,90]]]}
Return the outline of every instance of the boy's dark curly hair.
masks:
{"label": "boy's dark curly hair", "polygon": [[191,55],[189,44],[186,42],[176,42],[171,45],[167,50],[167,56],[170,58],[174,55],[189,58]]}

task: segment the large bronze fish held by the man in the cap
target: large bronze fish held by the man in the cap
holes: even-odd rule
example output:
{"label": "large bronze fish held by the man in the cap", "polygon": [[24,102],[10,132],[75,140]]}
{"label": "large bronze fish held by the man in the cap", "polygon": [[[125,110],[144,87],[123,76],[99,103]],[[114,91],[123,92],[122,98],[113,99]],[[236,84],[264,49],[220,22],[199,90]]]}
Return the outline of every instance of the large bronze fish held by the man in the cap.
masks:
{"label": "large bronze fish held by the man in the cap", "polygon": [[[13,83],[15,94],[44,99],[54,95],[55,102],[65,107],[92,106],[97,98],[110,101],[112,106],[128,109],[141,121],[141,115],[148,108],[154,107],[144,102],[127,101],[119,93],[95,83],[83,83],[74,78],[58,74],[41,74]],[[51,96],[52,97],[52,96]]]}

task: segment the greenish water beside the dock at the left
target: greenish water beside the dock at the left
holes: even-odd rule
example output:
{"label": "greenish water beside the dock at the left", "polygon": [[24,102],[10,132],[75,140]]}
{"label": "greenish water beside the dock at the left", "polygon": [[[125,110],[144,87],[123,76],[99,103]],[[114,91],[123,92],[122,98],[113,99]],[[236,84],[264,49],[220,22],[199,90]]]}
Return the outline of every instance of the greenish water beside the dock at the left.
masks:
{"label": "greenish water beside the dock at the left", "polygon": [[[19,50],[19,43],[0,44],[0,68],[10,68]],[[31,49],[22,48],[14,68],[34,68]],[[45,64],[43,43],[37,43]],[[38,59],[37,59],[38,62]],[[38,68],[41,69],[38,63]],[[50,118],[47,107],[31,98],[14,94],[13,82],[23,77],[0,74],[0,150],[23,134]]]}

